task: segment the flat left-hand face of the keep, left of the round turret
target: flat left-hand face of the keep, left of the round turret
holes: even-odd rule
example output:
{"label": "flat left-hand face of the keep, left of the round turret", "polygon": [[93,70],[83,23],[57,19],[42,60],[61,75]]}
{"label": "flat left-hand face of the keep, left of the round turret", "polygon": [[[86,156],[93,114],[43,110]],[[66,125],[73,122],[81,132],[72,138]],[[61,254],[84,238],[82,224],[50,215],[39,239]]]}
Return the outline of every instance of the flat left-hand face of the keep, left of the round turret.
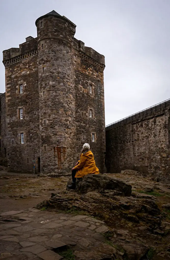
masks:
{"label": "flat left-hand face of the keep, left of the round turret", "polygon": [[[38,172],[39,155],[39,91],[37,54],[29,42],[27,52],[5,63],[6,122],[8,171]],[[35,40],[33,40],[33,43]],[[23,44],[24,45],[24,44]],[[6,55],[4,51],[4,57]],[[22,51],[21,51],[22,52]],[[8,64],[10,63],[10,64]],[[20,85],[23,93],[20,93]],[[20,119],[20,109],[23,119]],[[24,143],[21,143],[21,133]]]}

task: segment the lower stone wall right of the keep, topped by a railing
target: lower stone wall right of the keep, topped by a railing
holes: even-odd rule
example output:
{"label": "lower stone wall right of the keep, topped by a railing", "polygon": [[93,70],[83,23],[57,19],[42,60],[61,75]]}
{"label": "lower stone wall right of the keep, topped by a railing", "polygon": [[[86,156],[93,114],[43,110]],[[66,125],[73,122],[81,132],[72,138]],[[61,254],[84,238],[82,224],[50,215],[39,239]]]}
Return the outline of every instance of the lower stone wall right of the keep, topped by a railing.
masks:
{"label": "lower stone wall right of the keep, topped by a railing", "polygon": [[166,101],[106,127],[107,172],[131,169],[170,179],[169,109]]}

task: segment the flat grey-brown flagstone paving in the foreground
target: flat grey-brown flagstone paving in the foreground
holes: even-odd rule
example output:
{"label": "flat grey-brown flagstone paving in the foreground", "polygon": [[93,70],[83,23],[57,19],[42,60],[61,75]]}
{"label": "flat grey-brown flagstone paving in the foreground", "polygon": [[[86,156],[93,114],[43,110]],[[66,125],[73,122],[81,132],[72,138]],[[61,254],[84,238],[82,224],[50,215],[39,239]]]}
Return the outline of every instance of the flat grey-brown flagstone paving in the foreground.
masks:
{"label": "flat grey-brown flagstone paving in the foreground", "polygon": [[74,248],[77,259],[83,259],[84,251],[100,252],[102,246],[108,247],[102,234],[107,226],[90,216],[34,208],[0,216],[0,259],[57,260],[68,247]]}

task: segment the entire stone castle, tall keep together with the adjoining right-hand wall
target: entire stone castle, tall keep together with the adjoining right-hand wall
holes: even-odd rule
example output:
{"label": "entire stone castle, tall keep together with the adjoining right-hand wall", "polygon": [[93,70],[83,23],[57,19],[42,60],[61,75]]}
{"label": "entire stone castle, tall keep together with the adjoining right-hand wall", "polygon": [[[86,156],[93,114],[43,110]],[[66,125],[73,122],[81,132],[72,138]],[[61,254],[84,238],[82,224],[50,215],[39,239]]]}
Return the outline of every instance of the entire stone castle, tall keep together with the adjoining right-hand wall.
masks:
{"label": "entire stone castle, tall keep together with the adjoining right-hand wall", "polygon": [[35,24],[37,38],[3,51],[0,164],[70,174],[88,142],[101,173],[131,169],[170,182],[170,100],[105,128],[104,56],[54,10]]}

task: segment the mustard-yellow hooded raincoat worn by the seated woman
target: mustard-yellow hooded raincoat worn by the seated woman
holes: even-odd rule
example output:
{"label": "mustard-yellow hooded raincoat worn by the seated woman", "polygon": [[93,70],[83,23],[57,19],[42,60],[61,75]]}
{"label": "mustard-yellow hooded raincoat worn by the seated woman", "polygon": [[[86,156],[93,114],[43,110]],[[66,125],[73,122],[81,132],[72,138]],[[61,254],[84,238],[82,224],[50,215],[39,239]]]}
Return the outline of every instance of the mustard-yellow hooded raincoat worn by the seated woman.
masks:
{"label": "mustard-yellow hooded raincoat worn by the seated woman", "polygon": [[82,178],[86,174],[99,174],[91,151],[82,153],[78,162],[78,165],[74,167],[74,170],[77,170],[75,178]]}

